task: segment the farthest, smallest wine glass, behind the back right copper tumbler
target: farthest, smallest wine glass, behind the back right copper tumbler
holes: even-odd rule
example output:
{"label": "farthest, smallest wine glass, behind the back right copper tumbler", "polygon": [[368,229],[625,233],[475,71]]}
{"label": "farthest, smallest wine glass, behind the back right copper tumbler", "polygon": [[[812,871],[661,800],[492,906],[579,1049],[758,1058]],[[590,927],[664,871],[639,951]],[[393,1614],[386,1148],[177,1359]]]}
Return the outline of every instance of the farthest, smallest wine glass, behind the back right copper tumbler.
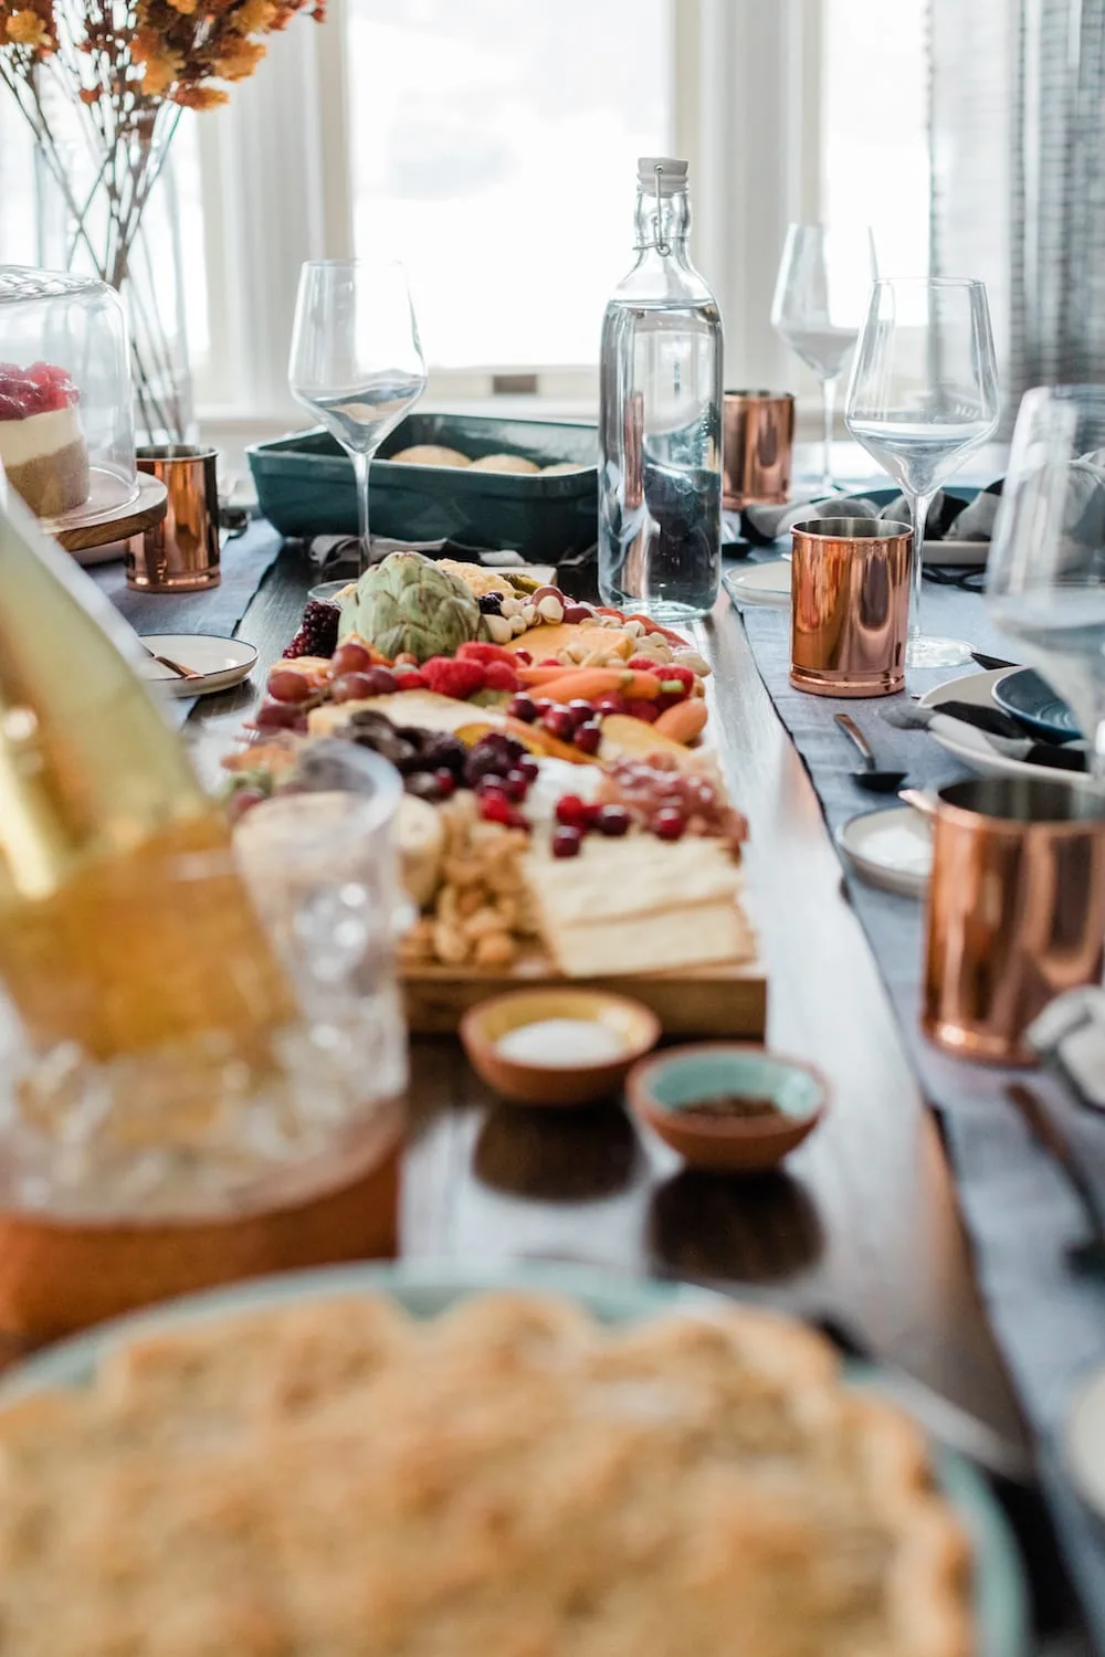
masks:
{"label": "farthest, smallest wine glass, behind the back right copper tumbler", "polygon": [[870,229],[827,224],[787,227],[772,328],[822,383],[825,446],[822,489],[833,492],[832,444],[837,381],[860,336],[863,308],[878,275]]}

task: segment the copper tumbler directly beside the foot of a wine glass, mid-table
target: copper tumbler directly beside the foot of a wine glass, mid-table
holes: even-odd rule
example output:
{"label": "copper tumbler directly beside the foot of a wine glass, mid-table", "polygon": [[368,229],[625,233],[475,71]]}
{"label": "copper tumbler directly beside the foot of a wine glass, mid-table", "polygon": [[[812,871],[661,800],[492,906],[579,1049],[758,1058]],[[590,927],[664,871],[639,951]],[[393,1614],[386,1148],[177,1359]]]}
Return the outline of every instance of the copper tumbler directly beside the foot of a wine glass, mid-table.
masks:
{"label": "copper tumbler directly beside the foot of a wine glass, mid-table", "polygon": [[813,696],[893,696],[906,683],[908,524],[810,519],[792,530],[790,683]]}

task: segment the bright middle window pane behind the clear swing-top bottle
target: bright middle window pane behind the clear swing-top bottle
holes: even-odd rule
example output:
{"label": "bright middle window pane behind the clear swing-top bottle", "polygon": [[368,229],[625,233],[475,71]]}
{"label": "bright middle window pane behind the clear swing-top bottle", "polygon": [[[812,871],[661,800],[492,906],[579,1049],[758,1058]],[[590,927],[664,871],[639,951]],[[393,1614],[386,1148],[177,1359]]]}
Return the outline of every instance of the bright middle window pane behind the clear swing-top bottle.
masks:
{"label": "bright middle window pane behind the clear swing-top bottle", "polygon": [[355,242],[408,267],[431,368],[591,365],[671,146],[674,0],[351,0]]}

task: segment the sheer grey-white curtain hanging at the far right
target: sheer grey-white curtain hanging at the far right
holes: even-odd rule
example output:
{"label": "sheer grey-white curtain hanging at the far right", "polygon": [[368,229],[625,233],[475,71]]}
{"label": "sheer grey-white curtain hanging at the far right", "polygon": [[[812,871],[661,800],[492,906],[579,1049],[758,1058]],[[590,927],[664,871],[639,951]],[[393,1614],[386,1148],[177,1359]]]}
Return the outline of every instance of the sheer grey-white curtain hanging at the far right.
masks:
{"label": "sheer grey-white curtain hanging at the far right", "polygon": [[1007,419],[1105,381],[1105,0],[929,0],[933,270],[989,287]]}

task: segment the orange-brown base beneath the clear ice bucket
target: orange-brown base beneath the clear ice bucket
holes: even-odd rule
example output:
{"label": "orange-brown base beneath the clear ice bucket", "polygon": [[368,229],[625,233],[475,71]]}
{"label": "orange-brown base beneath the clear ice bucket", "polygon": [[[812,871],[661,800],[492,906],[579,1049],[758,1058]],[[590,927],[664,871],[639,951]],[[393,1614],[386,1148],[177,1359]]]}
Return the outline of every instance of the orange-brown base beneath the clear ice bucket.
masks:
{"label": "orange-brown base beneath the clear ice bucket", "polygon": [[240,1208],[195,1218],[0,1211],[0,1331],[36,1345],[154,1301],[305,1266],[393,1256],[403,1109],[388,1107]]}

